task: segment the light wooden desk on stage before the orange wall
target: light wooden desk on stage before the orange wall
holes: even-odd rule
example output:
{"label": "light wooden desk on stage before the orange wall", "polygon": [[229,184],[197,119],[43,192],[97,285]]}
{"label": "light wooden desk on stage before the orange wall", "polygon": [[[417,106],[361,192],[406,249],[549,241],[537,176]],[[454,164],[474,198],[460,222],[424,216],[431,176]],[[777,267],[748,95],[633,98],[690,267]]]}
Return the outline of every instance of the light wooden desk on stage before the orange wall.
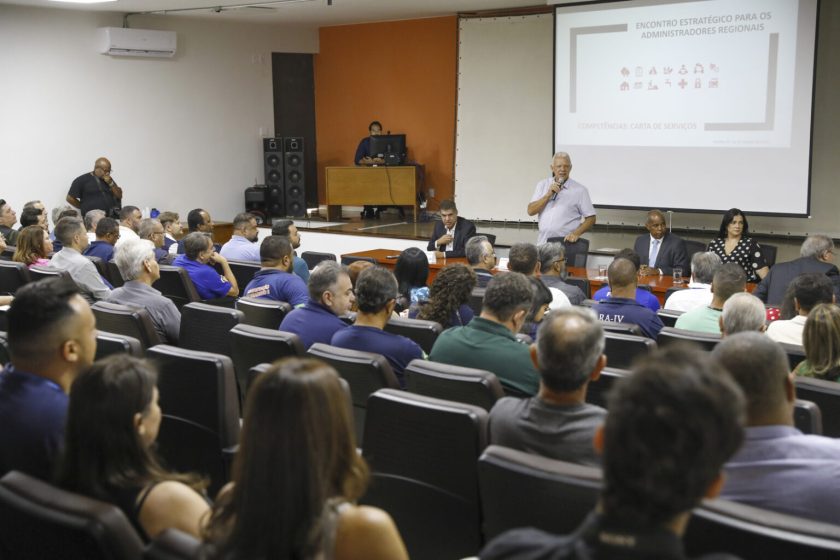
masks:
{"label": "light wooden desk on stage before the orange wall", "polygon": [[419,175],[416,165],[327,167],[327,220],[340,218],[341,206],[370,205],[411,206],[416,222]]}

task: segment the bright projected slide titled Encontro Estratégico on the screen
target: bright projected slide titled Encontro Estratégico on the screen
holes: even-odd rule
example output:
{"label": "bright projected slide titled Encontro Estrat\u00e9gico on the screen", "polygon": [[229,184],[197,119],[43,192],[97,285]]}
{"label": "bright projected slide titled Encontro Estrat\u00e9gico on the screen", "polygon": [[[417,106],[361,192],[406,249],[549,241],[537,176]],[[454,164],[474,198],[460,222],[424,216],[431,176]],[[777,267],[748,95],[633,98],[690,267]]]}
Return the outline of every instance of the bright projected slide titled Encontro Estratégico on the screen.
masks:
{"label": "bright projected slide titled Encontro Estrat\u00e9gico on the screen", "polygon": [[807,213],[815,0],[588,4],[555,26],[554,146],[596,204]]}

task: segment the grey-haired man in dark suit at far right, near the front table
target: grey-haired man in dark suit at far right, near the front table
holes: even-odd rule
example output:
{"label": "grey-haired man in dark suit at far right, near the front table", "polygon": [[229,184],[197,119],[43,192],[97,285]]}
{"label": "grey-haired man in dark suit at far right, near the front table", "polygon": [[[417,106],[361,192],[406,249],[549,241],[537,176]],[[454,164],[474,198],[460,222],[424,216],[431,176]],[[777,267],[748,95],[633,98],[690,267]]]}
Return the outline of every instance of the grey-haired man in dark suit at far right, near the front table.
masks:
{"label": "grey-haired man in dark suit at far right, near the front table", "polygon": [[840,296],[840,270],[833,261],[834,241],[827,235],[809,235],[802,242],[799,258],[773,265],[753,295],[764,303],[781,305],[785,290],[794,278],[806,272],[818,272],[831,279],[835,295]]}

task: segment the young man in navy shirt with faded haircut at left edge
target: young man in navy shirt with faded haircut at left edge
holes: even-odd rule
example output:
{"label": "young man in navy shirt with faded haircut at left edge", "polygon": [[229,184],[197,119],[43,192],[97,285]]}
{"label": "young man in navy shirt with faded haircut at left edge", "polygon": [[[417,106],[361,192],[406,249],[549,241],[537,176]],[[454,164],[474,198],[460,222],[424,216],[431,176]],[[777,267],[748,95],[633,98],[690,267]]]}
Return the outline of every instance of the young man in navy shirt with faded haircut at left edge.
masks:
{"label": "young man in navy shirt with faded haircut at left edge", "polygon": [[50,480],[64,440],[67,395],[96,354],[96,319],[73,284],[22,286],[6,314],[11,363],[0,374],[0,476]]}

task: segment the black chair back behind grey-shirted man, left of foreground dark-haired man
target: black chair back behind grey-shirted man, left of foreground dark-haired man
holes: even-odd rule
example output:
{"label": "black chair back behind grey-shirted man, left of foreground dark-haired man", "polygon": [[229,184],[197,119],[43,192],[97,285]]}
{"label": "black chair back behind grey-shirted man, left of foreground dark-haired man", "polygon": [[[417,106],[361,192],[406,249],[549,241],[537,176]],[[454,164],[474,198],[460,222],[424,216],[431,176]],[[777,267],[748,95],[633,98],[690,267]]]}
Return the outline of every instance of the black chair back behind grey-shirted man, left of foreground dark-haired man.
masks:
{"label": "black chair back behind grey-shirted man, left of foreground dark-haired man", "polygon": [[601,470],[490,445],[478,481],[485,540],[516,527],[568,534],[595,508]]}

